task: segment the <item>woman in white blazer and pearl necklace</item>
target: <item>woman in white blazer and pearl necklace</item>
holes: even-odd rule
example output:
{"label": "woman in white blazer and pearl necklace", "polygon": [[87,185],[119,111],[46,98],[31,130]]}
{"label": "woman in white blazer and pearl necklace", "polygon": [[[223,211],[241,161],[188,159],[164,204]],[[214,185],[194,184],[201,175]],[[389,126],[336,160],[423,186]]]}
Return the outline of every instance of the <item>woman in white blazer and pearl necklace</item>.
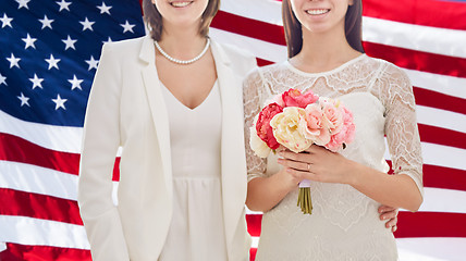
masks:
{"label": "woman in white blazer and pearl necklace", "polygon": [[103,46],[86,112],[93,259],[248,260],[242,80],[256,60],[208,38],[219,0],[143,4],[150,36]]}

